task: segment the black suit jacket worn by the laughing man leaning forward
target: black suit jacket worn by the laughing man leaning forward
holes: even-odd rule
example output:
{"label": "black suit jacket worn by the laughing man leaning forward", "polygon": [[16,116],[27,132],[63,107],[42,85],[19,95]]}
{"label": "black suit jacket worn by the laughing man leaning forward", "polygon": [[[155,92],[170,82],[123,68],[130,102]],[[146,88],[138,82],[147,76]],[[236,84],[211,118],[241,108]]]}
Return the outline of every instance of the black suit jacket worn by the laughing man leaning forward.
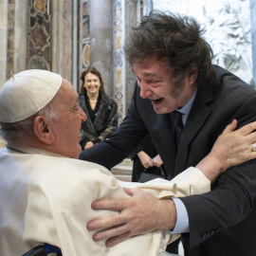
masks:
{"label": "black suit jacket worn by the laughing man leaning forward", "polygon": [[[232,119],[238,119],[239,127],[256,119],[256,91],[221,67],[216,66],[216,72],[215,87],[198,88],[177,153],[169,115],[156,114],[151,101],[139,97],[136,86],[119,129],[107,141],[82,152],[81,158],[111,168],[149,133],[170,179],[195,166],[210,153],[216,138]],[[181,198],[190,220],[190,233],[183,234],[186,245],[193,248],[190,255],[256,255],[255,194],[253,160],[222,174],[211,192]]]}

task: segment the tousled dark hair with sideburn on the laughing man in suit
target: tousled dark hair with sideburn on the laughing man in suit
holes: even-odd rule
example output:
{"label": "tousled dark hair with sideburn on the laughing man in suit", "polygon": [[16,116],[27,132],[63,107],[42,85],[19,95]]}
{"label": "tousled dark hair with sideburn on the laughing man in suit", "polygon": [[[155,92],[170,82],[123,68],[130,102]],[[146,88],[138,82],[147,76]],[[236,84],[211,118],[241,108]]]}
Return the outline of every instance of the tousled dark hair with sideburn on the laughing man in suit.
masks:
{"label": "tousled dark hair with sideburn on the laughing man in suit", "polygon": [[215,81],[211,64],[212,49],[202,38],[204,28],[195,19],[172,12],[151,11],[137,27],[132,27],[124,46],[129,64],[155,56],[167,57],[174,81],[182,84],[193,67],[197,67],[197,86],[208,86]]}

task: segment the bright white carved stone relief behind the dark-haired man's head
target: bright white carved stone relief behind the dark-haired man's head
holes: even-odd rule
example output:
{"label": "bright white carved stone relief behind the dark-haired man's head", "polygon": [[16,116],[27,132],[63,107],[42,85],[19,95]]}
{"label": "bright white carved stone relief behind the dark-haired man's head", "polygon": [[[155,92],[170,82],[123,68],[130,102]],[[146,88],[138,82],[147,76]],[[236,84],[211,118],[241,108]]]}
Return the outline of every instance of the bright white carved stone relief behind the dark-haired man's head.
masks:
{"label": "bright white carved stone relief behind the dark-haired man's head", "polygon": [[154,0],[154,9],[191,15],[205,25],[205,38],[219,64],[242,80],[252,80],[249,0]]}

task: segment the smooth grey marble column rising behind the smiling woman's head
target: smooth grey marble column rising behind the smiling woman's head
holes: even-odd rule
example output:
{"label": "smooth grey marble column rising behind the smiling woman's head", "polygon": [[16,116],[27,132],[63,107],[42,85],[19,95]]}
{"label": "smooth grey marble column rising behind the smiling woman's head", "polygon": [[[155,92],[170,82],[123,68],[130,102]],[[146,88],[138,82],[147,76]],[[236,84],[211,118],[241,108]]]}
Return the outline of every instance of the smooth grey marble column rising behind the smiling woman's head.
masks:
{"label": "smooth grey marble column rising behind the smiling woman's head", "polygon": [[90,63],[102,75],[106,93],[113,97],[113,1],[90,1]]}

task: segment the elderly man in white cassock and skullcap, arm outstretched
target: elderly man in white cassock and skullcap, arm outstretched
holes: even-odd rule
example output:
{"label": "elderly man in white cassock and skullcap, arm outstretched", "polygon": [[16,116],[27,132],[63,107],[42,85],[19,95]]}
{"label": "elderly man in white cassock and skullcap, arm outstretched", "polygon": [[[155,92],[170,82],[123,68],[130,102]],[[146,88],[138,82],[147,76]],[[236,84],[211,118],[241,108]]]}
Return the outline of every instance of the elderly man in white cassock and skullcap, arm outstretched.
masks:
{"label": "elderly man in white cassock and skullcap, arm outstretched", "polygon": [[[172,181],[120,182],[104,167],[77,159],[85,119],[78,94],[60,75],[31,69],[4,84],[0,132],[7,145],[0,151],[1,256],[21,255],[44,243],[60,247],[64,256],[157,255],[177,237],[162,229],[168,220],[161,212],[168,210],[170,198],[209,192],[219,174],[256,156],[249,147],[256,141],[251,133],[256,123],[234,131],[234,120],[197,168]],[[136,196],[137,189],[148,192],[144,203],[158,216],[155,229],[115,247],[94,242],[86,224],[116,212],[92,210],[92,202]]]}

